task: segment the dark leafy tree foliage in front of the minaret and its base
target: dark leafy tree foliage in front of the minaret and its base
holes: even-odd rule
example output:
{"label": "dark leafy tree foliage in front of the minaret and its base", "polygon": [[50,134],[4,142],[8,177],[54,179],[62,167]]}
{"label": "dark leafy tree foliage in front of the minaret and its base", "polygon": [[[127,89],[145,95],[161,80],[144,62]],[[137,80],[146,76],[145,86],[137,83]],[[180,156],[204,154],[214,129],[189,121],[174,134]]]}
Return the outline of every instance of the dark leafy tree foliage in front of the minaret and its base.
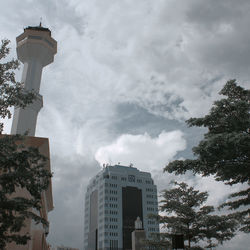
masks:
{"label": "dark leafy tree foliage in front of the minaret and its base", "polygon": [[[9,41],[3,40],[0,59],[9,54]],[[6,60],[6,59],[5,59]],[[15,70],[19,62],[12,59],[0,63],[0,117],[11,118],[10,107],[24,108],[31,103],[34,93],[26,93],[23,85],[15,80]],[[0,123],[0,133],[3,123]],[[0,136],[0,249],[6,244],[26,244],[30,235],[20,234],[25,220],[46,224],[37,213],[41,207],[41,192],[48,187],[51,174],[46,170],[47,158],[37,148],[25,145],[25,136]],[[23,189],[29,198],[19,196]]]}

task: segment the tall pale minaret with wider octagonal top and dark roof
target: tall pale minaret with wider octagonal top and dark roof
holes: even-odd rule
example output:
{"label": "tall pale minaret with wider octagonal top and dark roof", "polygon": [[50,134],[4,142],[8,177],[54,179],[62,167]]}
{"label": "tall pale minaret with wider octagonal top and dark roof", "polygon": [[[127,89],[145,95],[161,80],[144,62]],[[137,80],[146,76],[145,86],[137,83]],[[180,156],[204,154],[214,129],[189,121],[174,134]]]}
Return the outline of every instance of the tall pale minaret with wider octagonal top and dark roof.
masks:
{"label": "tall pale minaret with wider octagonal top and dark roof", "polygon": [[17,56],[24,64],[22,82],[25,91],[33,91],[36,99],[25,109],[15,108],[11,134],[35,135],[37,115],[43,107],[43,97],[39,94],[43,67],[54,61],[57,42],[49,29],[41,26],[27,27],[16,38]]}

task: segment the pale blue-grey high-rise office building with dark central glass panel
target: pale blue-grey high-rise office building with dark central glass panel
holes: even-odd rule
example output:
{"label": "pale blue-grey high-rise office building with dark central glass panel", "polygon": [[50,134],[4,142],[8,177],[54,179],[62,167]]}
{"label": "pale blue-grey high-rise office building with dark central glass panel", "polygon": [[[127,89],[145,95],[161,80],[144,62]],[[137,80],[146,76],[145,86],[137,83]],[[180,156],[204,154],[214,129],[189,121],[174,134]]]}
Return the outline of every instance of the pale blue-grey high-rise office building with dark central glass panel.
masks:
{"label": "pale blue-grey high-rise office building with dark central glass panel", "polygon": [[151,174],[134,167],[105,166],[87,187],[84,250],[132,249],[131,233],[138,216],[147,238],[159,232],[159,224],[149,214],[158,214]]}

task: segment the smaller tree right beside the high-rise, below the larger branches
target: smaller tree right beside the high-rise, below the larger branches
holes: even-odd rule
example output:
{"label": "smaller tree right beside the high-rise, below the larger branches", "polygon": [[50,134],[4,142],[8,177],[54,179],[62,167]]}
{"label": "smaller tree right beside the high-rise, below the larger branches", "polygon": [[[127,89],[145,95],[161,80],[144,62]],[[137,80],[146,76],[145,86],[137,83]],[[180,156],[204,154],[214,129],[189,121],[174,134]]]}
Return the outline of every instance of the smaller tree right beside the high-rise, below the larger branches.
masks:
{"label": "smaller tree right beside the high-rise, below the larger branches", "polygon": [[[205,248],[212,248],[234,236],[237,225],[234,218],[215,215],[213,206],[203,206],[207,192],[199,192],[184,182],[174,184],[174,188],[164,190],[161,195],[160,211],[164,215],[152,215],[163,224],[165,232],[161,237],[168,238],[166,244],[171,244],[173,234],[181,234],[188,241],[188,249],[202,249],[197,245],[199,242]],[[151,245],[157,245],[157,241]]]}

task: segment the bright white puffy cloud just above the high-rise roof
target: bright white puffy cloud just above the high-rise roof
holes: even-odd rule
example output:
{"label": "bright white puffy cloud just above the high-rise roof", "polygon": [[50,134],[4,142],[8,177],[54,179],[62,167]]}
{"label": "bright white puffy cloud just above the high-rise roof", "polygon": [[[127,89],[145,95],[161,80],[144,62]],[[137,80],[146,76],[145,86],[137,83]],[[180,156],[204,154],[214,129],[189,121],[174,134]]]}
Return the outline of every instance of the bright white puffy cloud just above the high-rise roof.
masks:
{"label": "bright white puffy cloud just above the high-rise roof", "polygon": [[162,169],[173,159],[178,151],[186,148],[183,133],[179,130],[172,132],[162,131],[158,137],[152,138],[147,133],[142,135],[121,135],[110,145],[100,147],[96,160],[103,163],[129,165],[143,171]]}

